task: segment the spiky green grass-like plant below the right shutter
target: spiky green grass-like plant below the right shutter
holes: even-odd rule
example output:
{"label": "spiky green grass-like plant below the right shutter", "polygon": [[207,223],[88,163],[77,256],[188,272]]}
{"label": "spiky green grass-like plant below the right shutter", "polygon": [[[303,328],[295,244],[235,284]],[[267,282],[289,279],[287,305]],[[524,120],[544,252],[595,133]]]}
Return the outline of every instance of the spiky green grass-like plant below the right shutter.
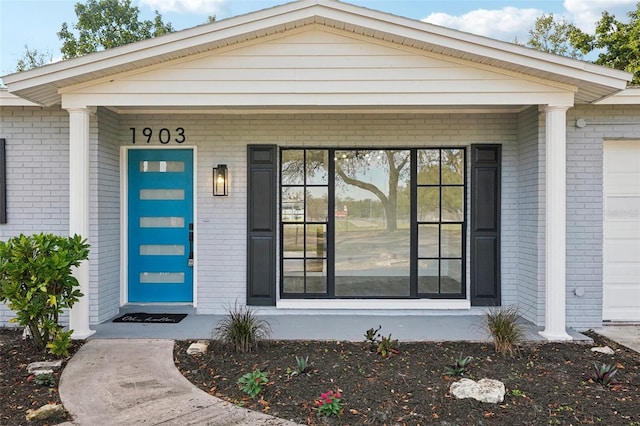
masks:
{"label": "spiky green grass-like plant below the right shutter", "polygon": [[517,344],[524,335],[519,318],[518,310],[513,307],[489,309],[484,317],[484,325],[493,338],[496,352],[511,356],[517,352]]}

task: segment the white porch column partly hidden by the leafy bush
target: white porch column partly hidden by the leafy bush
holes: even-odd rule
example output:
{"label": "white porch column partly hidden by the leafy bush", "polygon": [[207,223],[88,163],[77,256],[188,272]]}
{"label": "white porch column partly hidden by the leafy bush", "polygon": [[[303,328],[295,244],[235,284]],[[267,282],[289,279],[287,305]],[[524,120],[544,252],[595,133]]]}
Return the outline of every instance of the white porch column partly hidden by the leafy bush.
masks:
{"label": "white porch column partly hidden by the leafy bush", "polygon": [[[89,109],[68,108],[69,112],[69,235],[89,238]],[[91,257],[91,252],[89,252]],[[95,333],[89,328],[89,261],[73,271],[84,294],[69,312],[73,339]]]}

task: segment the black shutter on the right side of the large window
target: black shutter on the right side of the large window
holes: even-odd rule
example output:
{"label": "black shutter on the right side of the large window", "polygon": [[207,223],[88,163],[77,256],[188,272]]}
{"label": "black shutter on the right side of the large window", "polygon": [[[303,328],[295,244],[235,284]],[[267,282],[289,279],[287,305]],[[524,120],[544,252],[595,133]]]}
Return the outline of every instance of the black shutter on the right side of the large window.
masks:
{"label": "black shutter on the right side of the large window", "polygon": [[500,305],[501,145],[471,145],[471,305]]}

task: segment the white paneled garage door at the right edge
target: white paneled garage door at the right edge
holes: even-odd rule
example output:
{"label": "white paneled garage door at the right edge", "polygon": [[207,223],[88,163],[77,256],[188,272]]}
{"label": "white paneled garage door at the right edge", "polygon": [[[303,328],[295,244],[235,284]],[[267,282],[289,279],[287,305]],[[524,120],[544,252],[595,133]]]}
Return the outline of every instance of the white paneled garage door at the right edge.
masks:
{"label": "white paneled garage door at the right edge", "polygon": [[610,321],[640,321],[640,140],[604,144],[604,301]]}

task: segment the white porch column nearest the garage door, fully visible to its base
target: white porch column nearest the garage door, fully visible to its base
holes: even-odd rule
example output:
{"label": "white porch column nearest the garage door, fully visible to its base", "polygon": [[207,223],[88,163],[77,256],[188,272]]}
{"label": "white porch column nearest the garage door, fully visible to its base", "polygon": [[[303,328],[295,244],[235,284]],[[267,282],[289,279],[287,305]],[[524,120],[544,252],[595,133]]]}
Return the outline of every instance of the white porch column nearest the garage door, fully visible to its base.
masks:
{"label": "white porch column nearest the garage door, fully visible to its base", "polygon": [[545,211],[545,327],[548,340],[571,340],[566,331],[567,106],[547,106]]}

